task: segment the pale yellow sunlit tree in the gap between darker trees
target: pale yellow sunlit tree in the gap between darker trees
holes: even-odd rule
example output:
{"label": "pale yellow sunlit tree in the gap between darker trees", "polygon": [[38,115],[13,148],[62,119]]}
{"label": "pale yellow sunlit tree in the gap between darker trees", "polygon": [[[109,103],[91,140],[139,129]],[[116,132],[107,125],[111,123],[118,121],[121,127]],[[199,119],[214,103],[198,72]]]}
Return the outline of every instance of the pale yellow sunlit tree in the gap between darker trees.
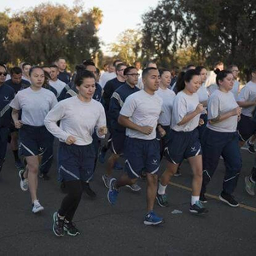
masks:
{"label": "pale yellow sunlit tree in the gap between darker trees", "polygon": [[141,55],[142,43],[141,32],[138,30],[127,29],[119,34],[117,43],[110,45],[110,50],[117,58],[132,65]]}

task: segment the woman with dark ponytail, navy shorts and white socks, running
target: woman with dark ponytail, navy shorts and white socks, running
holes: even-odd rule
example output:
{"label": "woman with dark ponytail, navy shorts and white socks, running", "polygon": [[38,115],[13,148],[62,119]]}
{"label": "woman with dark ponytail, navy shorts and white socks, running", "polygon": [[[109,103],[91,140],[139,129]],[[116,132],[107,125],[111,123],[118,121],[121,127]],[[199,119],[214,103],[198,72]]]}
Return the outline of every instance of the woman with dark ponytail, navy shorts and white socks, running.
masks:
{"label": "woman with dark ponytail, navy shorts and white socks, running", "polygon": [[199,201],[202,182],[201,144],[197,126],[203,106],[196,91],[201,86],[200,74],[191,69],[184,73],[183,83],[177,82],[177,96],[172,107],[172,130],[166,148],[166,171],[160,177],[157,201],[160,207],[168,207],[166,187],[177,172],[178,165],[188,159],[193,171],[192,196],[189,212],[201,214],[207,209]]}

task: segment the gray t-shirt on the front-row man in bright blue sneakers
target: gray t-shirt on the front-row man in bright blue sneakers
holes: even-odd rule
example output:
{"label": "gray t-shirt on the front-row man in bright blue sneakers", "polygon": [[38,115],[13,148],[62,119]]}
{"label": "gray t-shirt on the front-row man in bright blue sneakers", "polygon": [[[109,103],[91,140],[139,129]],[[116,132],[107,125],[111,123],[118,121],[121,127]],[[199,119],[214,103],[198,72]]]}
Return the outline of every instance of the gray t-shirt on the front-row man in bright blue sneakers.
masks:
{"label": "gray t-shirt on the front-row man in bright blue sneakers", "polygon": [[151,134],[146,135],[140,131],[126,128],[126,136],[143,140],[153,140],[156,137],[155,128],[160,116],[162,102],[160,96],[155,93],[154,95],[150,95],[145,90],[137,91],[131,96],[128,96],[120,114],[129,117],[134,124],[140,126],[148,125],[154,129]]}

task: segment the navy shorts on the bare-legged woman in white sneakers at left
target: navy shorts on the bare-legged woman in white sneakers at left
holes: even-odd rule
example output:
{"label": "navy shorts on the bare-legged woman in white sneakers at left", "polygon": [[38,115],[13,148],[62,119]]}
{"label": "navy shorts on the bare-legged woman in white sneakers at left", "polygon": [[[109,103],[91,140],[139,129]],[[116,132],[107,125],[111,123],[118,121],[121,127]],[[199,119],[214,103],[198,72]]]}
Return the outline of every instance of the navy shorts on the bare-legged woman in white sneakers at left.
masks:
{"label": "navy shorts on the bare-legged woman in white sneakers at left", "polygon": [[43,155],[52,147],[54,137],[45,126],[22,125],[19,130],[19,153],[24,156]]}

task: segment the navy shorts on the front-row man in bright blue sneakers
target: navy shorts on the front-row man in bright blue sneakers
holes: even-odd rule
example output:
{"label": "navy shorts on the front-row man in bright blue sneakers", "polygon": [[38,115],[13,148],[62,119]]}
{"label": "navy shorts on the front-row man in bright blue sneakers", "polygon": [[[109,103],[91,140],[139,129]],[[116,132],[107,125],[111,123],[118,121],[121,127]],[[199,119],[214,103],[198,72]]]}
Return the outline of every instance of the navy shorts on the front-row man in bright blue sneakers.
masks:
{"label": "navy shorts on the front-row man in bright blue sneakers", "polygon": [[155,174],[159,166],[160,144],[156,139],[125,138],[125,172],[129,177],[140,177],[142,171]]}

